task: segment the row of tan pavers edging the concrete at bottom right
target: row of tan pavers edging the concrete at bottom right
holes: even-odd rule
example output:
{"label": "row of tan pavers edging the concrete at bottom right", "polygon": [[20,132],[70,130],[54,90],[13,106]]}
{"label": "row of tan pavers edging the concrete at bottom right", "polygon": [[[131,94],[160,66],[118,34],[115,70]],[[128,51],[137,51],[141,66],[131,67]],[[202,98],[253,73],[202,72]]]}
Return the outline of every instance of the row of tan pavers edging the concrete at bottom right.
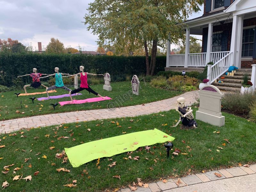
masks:
{"label": "row of tan pavers edging the concrete at bottom right", "polygon": [[[214,173],[221,174],[221,177],[216,176]],[[178,188],[186,187],[189,185],[212,182],[212,181],[221,180],[221,179],[228,180],[234,177],[241,177],[242,179],[243,176],[247,176],[255,173],[256,173],[256,164],[252,164],[249,167],[241,166],[241,167],[235,167],[235,168],[229,168],[229,169],[220,169],[217,171],[197,173],[193,175],[191,174],[191,175],[182,177],[180,178],[179,186],[177,185],[178,178],[168,179],[166,183],[164,183],[163,181],[150,183],[148,184],[149,185],[148,188],[138,187],[136,192],[160,192],[165,190],[167,190],[168,192],[172,192],[172,191],[176,191]],[[175,190],[175,188],[177,189]],[[187,191],[187,190],[184,188],[184,191]],[[211,190],[205,189],[205,191],[211,191]],[[240,191],[240,189],[238,191]],[[131,189],[124,188],[124,189],[120,189],[118,192],[131,192]]]}

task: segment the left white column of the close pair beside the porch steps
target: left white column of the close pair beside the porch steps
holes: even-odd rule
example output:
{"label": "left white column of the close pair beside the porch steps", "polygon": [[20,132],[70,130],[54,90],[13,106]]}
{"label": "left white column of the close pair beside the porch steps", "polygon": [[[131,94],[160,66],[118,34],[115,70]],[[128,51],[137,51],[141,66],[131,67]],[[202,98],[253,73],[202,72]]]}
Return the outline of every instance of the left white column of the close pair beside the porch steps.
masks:
{"label": "left white column of the close pair beside the porch steps", "polygon": [[[240,29],[239,29],[240,30]],[[237,34],[238,34],[238,16],[233,16],[233,26],[232,26],[232,35],[231,35],[231,45],[230,52],[233,52],[230,57],[230,65],[237,66],[238,62],[236,60],[237,54]],[[239,39],[240,41],[240,39]]]}

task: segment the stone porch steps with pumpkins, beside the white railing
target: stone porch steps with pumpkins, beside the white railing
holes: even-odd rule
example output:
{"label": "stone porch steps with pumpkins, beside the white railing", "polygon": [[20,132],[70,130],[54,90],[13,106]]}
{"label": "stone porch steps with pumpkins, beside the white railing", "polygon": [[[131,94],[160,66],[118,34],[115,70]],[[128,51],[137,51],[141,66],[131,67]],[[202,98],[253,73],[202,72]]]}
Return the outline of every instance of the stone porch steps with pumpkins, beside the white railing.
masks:
{"label": "stone porch steps with pumpkins, beside the white railing", "polygon": [[245,74],[247,74],[248,78],[251,79],[252,69],[236,69],[234,76],[223,75],[225,79],[217,79],[217,81],[223,81],[223,83],[212,84],[218,87],[220,90],[240,92]]}

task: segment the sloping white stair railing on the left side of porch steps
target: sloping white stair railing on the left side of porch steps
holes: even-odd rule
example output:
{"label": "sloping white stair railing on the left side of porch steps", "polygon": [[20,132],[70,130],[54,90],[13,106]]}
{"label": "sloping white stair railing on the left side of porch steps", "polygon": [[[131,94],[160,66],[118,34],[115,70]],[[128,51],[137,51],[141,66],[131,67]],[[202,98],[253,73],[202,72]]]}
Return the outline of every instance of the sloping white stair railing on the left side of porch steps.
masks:
{"label": "sloping white stair railing on the left side of porch steps", "polygon": [[215,62],[213,65],[208,65],[207,79],[209,79],[208,84],[212,84],[215,79],[222,76],[230,67],[230,57],[233,52],[229,52],[223,58]]}

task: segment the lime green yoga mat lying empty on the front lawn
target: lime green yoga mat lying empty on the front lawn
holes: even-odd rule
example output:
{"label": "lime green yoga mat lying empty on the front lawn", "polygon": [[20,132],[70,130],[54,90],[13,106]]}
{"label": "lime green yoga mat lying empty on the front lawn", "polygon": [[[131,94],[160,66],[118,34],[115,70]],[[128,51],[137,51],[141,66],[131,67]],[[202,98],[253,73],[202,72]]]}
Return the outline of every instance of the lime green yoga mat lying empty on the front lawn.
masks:
{"label": "lime green yoga mat lying empty on the front lawn", "polygon": [[75,147],[65,148],[65,152],[72,166],[79,167],[94,159],[111,157],[120,153],[134,151],[139,147],[173,141],[174,139],[166,133],[154,129],[84,143]]}

